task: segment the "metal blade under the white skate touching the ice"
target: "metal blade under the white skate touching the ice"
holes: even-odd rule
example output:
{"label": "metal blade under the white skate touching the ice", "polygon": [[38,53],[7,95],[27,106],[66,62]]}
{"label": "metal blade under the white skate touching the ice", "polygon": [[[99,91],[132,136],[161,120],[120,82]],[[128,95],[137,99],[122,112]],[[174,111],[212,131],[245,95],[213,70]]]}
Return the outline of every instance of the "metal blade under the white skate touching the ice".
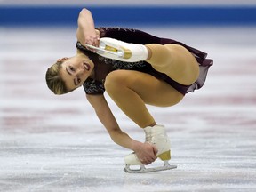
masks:
{"label": "metal blade under the white skate touching the ice", "polygon": [[129,164],[126,164],[124,168],[124,172],[129,172],[129,173],[147,173],[147,172],[161,172],[161,171],[166,171],[170,169],[176,169],[176,165],[170,165],[166,162],[164,162],[164,166],[162,167],[154,167],[154,168],[146,168],[144,164],[140,164],[140,169],[131,169]]}

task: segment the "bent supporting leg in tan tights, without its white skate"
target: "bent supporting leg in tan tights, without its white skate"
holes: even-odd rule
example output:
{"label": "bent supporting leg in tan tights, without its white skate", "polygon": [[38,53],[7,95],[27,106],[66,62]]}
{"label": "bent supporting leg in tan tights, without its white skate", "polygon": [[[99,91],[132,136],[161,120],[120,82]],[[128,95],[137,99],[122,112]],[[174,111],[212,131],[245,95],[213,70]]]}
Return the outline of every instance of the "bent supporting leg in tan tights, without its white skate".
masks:
{"label": "bent supporting leg in tan tights, without its white skate", "polygon": [[124,114],[142,128],[156,124],[145,103],[169,107],[183,98],[183,95],[169,84],[138,71],[111,72],[106,78],[105,88]]}

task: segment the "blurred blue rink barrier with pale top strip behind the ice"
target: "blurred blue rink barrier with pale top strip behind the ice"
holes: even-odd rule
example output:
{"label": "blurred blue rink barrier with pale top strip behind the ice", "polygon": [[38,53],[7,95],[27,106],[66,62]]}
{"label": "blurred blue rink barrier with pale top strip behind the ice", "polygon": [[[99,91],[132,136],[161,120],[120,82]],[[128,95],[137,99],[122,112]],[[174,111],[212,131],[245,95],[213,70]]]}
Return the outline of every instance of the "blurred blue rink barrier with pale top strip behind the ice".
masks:
{"label": "blurred blue rink barrier with pale top strip behind the ice", "polygon": [[255,25],[254,0],[1,0],[0,24],[76,25],[82,7],[97,23],[118,25]]}

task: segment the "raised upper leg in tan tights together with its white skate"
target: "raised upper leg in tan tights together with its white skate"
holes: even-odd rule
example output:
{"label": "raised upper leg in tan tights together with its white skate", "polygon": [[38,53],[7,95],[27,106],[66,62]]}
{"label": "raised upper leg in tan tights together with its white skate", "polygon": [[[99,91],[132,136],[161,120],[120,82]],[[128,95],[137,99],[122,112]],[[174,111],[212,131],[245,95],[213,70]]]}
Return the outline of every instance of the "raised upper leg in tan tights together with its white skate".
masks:
{"label": "raised upper leg in tan tights together with its white skate", "polygon": [[146,60],[180,84],[193,84],[199,76],[195,57],[178,44],[128,44],[108,37],[101,38],[100,43],[104,46],[97,48],[97,53],[103,57],[126,62]]}

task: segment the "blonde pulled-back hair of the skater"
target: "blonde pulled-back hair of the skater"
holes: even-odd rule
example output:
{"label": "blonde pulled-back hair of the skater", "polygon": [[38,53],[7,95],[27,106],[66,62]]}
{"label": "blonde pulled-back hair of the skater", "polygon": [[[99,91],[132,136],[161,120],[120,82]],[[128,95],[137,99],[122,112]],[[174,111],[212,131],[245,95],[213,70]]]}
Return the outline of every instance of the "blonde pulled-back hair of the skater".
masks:
{"label": "blonde pulled-back hair of the skater", "polygon": [[45,80],[48,88],[54,92],[54,94],[60,95],[73,90],[68,90],[65,82],[60,76],[60,68],[63,61],[57,61],[50,68],[47,69]]}

